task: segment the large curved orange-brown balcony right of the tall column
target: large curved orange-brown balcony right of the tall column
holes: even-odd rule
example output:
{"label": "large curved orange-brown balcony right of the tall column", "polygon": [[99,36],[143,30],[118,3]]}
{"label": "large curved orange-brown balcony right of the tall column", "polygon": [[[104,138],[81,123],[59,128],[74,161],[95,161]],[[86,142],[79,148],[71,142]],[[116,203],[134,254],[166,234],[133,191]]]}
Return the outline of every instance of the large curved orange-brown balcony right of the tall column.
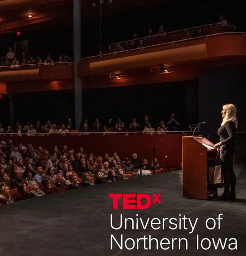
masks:
{"label": "large curved orange-brown balcony right of the tall column", "polygon": [[198,68],[246,63],[246,33],[234,30],[209,24],[143,38],[141,48],[84,58],[83,88],[193,80]]}

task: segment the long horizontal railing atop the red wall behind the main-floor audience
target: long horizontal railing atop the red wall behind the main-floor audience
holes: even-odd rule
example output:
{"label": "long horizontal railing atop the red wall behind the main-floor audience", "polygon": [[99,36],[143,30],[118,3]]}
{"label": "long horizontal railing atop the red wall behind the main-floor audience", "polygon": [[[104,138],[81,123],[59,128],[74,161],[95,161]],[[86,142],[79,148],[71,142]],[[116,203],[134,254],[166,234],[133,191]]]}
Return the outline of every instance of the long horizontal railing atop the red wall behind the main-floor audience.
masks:
{"label": "long horizontal railing atop the red wall behind the main-floor audience", "polygon": [[146,134],[146,135],[154,135],[154,134],[170,134],[170,133],[183,133],[183,134],[186,134],[186,133],[193,133],[192,131],[190,130],[183,130],[183,131],[160,131],[160,132],[157,132],[157,131],[154,131],[154,132],[70,132],[70,133],[0,133],[0,136],[18,136],[18,137],[21,137],[21,136],[47,136],[47,135],[78,135],[78,136],[81,136],[81,135],[95,135],[95,134],[99,134],[99,135],[108,135],[108,134],[125,134],[126,136],[129,135],[129,134]]}

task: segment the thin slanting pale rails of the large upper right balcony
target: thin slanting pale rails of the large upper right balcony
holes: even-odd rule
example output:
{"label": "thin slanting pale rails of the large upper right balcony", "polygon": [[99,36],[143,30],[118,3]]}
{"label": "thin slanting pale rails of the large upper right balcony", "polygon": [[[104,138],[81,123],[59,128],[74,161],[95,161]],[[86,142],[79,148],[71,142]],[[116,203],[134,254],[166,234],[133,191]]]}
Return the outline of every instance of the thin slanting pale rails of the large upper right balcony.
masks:
{"label": "thin slanting pale rails of the large upper right balcony", "polygon": [[[208,25],[206,25],[206,26],[208,26]],[[229,26],[232,26],[232,25],[229,25]],[[233,27],[235,27],[235,26],[233,26]],[[198,28],[198,27],[196,27],[196,28]],[[170,32],[170,33],[172,33],[172,32]],[[232,32],[221,32],[221,33],[214,33],[214,34],[208,34],[208,35],[203,35],[203,36],[196,36],[196,37],[191,37],[191,38],[188,38],[188,39],[173,40],[173,41],[158,43],[158,44],[155,43],[153,45],[143,46],[143,47],[140,47],[140,48],[134,48],[134,49],[124,50],[124,51],[119,51],[119,52],[111,52],[111,53],[106,53],[106,54],[102,54],[102,55],[95,55],[95,56],[83,58],[82,60],[92,60],[93,58],[118,55],[118,54],[122,54],[122,53],[125,53],[125,52],[143,51],[144,49],[153,48],[153,47],[157,47],[157,46],[173,45],[175,43],[188,42],[188,41],[193,41],[193,40],[198,40],[198,39],[207,39],[209,37],[221,36],[221,35],[246,35],[246,32],[241,32],[241,31],[240,32],[233,32],[232,31]],[[155,35],[155,36],[151,36],[151,37],[156,37],[156,36],[161,36],[161,35]],[[150,37],[143,37],[143,38],[146,38],[148,40]],[[166,35],[162,36],[162,38],[166,38]],[[137,40],[140,40],[140,39],[137,39]],[[131,40],[131,41],[133,41],[133,40]]]}

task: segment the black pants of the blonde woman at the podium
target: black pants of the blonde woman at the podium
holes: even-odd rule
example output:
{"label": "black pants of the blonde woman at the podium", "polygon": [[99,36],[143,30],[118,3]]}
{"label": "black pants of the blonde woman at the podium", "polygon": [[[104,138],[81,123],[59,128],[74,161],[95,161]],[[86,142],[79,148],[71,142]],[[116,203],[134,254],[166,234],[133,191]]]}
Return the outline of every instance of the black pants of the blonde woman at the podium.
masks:
{"label": "black pants of the blonde woman at the podium", "polygon": [[233,169],[233,157],[235,154],[235,148],[227,145],[223,145],[220,148],[220,164],[221,171],[225,184],[225,193],[235,193],[236,188],[236,175]]}

